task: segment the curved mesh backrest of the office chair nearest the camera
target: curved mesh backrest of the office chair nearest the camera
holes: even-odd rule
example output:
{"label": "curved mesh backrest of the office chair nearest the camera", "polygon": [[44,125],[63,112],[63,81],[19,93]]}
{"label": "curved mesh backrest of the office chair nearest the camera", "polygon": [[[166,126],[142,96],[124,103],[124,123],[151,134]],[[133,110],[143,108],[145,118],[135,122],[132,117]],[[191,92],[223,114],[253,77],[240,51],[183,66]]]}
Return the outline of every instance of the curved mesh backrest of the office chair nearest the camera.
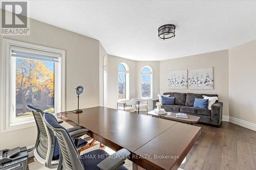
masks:
{"label": "curved mesh backrest of the office chair nearest the camera", "polygon": [[84,169],[75,144],[68,131],[58,124],[57,119],[52,114],[44,114],[44,121],[46,126],[56,133],[60,148],[60,162],[62,163],[62,168],[75,170]]}

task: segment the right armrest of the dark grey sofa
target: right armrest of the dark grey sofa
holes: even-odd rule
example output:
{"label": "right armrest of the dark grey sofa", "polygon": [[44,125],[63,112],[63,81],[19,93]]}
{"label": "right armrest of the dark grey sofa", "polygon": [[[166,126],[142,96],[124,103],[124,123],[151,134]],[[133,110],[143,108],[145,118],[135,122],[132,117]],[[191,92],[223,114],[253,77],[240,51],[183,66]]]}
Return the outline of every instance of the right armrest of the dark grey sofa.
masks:
{"label": "right armrest of the dark grey sofa", "polygon": [[221,125],[223,103],[217,102],[211,106],[211,124]]}

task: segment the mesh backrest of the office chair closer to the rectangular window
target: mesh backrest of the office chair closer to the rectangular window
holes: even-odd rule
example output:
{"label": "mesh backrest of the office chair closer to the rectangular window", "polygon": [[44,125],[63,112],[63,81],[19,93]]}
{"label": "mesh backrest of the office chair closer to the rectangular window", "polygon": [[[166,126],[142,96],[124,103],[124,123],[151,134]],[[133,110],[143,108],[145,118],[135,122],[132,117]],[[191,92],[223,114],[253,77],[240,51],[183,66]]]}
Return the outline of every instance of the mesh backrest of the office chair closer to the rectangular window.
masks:
{"label": "mesh backrest of the office chair closer to the rectangular window", "polygon": [[[41,163],[45,163],[46,167],[55,168],[58,162],[52,162],[55,148],[55,137],[52,131],[47,130],[44,123],[44,111],[28,105],[27,108],[32,111],[37,127],[37,138],[34,147],[35,158]],[[48,137],[49,136],[49,137]],[[39,158],[37,156],[39,155]]]}

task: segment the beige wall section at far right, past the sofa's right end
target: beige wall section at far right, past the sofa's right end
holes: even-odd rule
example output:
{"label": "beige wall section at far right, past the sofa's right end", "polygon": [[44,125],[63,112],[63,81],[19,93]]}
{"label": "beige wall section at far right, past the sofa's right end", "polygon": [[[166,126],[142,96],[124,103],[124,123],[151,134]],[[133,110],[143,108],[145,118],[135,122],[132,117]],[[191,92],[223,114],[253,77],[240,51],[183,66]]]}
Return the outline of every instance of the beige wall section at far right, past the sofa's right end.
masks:
{"label": "beige wall section at far right, past the sofa's right end", "polygon": [[256,124],[256,40],[229,49],[229,116]]}

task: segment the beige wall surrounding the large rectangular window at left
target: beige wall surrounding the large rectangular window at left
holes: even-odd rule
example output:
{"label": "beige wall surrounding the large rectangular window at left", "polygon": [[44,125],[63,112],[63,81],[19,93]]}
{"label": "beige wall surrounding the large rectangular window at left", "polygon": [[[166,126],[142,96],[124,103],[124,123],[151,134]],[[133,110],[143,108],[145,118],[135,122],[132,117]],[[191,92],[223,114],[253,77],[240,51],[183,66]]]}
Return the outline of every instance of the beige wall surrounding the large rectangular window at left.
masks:
{"label": "beige wall surrounding the large rectangular window at left", "polygon": [[[2,55],[3,38],[65,50],[66,110],[73,110],[77,106],[75,87],[78,85],[86,89],[81,94],[80,106],[98,106],[99,41],[34,19],[30,20],[30,26],[30,36],[1,36],[0,54]],[[0,133],[0,149],[34,145],[36,135],[36,127]]]}

